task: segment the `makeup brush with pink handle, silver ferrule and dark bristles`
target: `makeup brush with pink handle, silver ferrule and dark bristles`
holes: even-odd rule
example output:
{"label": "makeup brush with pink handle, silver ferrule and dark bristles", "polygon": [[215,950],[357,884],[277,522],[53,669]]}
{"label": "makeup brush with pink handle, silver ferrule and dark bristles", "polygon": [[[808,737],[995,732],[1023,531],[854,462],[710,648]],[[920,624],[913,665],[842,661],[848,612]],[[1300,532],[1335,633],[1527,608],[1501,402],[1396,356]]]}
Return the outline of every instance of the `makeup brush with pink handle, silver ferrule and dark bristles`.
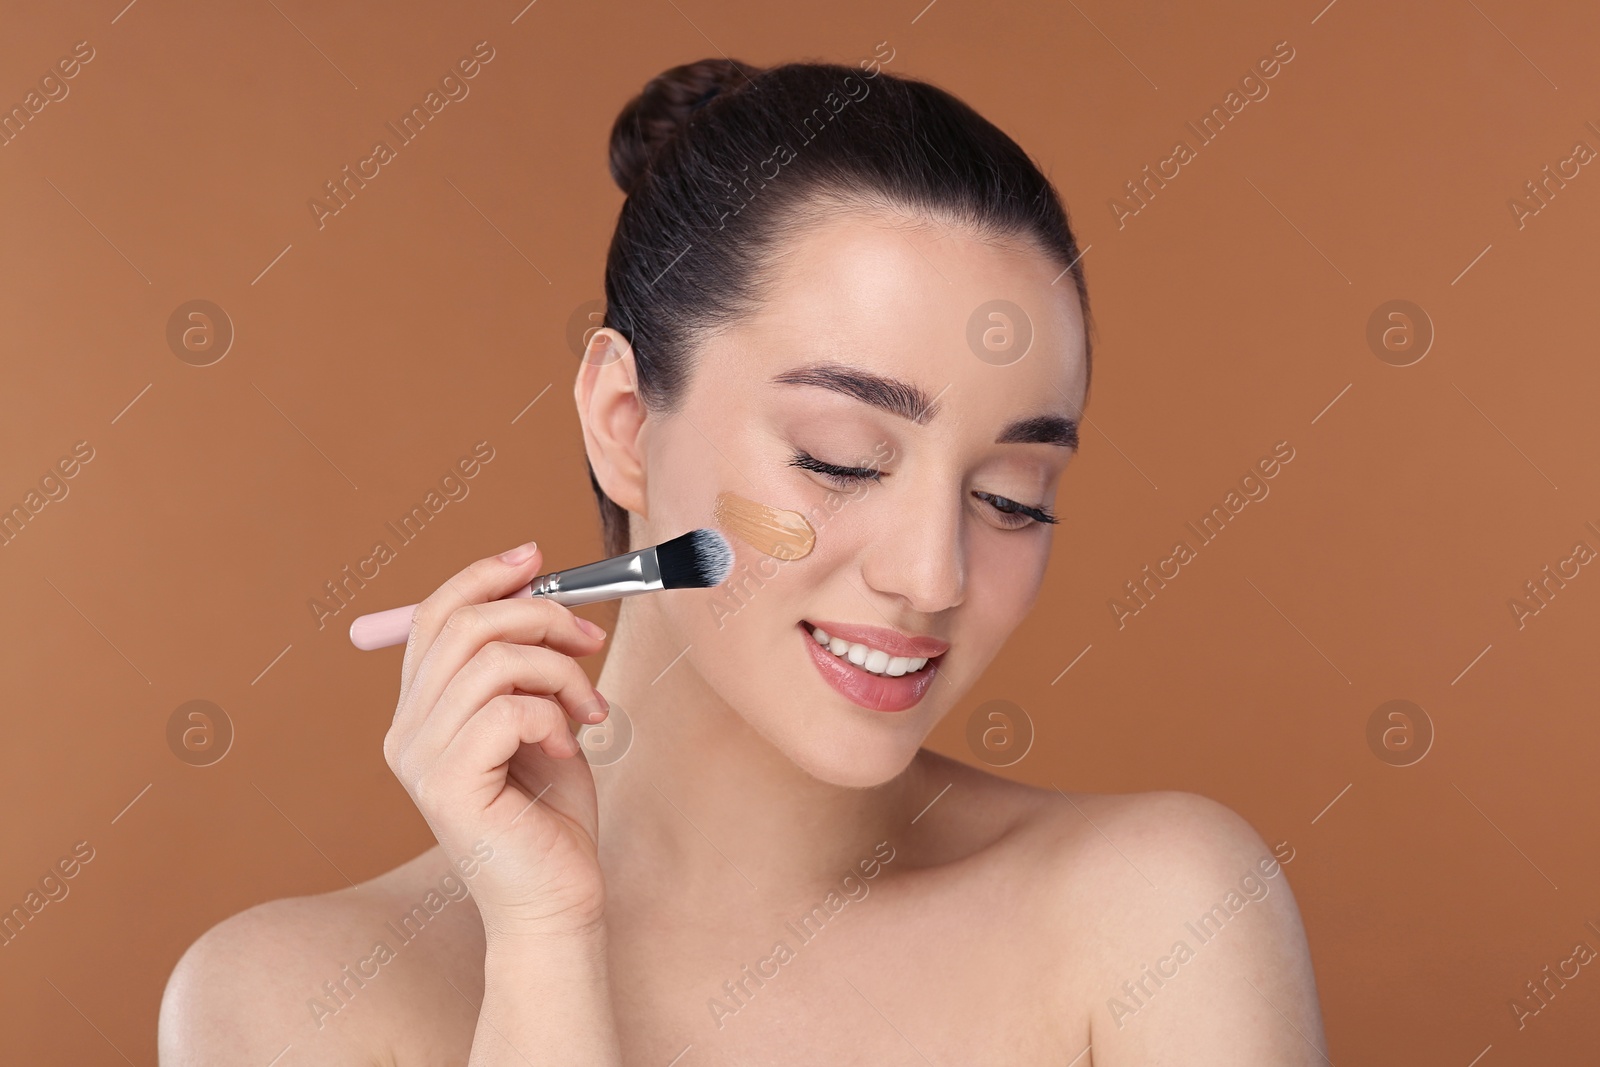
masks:
{"label": "makeup brush with pink handle, silver ferrule and dark bristles", "polygon": [[[701,528],[651,549],[541,574],[501,600],[547,597],[571,608],[658,589],[707,589],[720,585],[731,569],[733,547],[728,539],[715,530]],[[406,605],[358,616],[350,622],[350,643],[365,649],[403,645],[411,635],[416,608]]]}

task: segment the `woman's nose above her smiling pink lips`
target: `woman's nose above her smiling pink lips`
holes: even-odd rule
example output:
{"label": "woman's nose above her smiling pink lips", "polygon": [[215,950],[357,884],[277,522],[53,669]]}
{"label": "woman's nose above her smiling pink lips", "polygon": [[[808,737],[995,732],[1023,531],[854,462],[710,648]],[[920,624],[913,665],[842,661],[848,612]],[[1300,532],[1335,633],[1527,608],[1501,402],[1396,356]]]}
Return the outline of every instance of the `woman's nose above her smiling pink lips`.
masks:
{"label": "woman's nose above her smiling pink lips", "polygon": [[890,510],[891,525],[874,539],[861,576],[909,611],[936,614],[966,598],[965,512],[955,494],[928,491],[920,501]]}

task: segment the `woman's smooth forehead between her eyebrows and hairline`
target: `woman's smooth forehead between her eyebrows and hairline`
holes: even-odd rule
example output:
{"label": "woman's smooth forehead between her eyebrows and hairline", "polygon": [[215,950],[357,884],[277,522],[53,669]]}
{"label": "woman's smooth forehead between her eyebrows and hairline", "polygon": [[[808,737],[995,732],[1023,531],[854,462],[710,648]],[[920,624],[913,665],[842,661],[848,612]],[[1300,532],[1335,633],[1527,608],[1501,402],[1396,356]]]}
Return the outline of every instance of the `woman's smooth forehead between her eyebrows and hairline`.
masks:
{"label": "woman's smooth forehead between her eyebrows and hairline", "polygon": [[[942,394],[942,405],[1077,416],[1085,389],[1077,288],[1014,240],[888,211],[838,211],[771,258],[763,301],[725,334],[718,371],[770,381],[835,362]],[[1019,344],[1021,349],[1000,349]],[[714,357],[715,360],[715,357]]]}

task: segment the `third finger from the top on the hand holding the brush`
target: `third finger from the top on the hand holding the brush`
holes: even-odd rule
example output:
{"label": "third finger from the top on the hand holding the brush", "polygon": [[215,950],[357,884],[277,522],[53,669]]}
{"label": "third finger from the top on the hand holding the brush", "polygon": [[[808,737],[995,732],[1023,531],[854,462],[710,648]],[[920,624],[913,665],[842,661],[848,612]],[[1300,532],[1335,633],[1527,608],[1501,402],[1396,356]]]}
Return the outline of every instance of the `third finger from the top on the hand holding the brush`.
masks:
{"label": "third finger from the top on the hand holding the brush", "polygon": [[603,702],[584,669],[570,656],[549,648],[491,641],[445,686],[406,745],[406,758],[427,766],[478,709],[509,694],[550,697],[574,723],[603,718]]}

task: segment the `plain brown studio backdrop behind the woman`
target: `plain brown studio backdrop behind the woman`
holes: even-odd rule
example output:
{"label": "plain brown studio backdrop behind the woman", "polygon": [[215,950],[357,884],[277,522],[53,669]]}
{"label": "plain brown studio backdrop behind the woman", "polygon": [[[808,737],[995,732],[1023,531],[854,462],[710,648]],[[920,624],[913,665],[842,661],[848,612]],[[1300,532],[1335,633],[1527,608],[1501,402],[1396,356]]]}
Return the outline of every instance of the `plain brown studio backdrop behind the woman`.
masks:
{"label": "plain brown studio backdrop behind the woman", "polygon": [[[94,450],[0,549],[0,904],[96,849],[0,949],[5,1059],[154,1062],[203,929],[430,843],[379,750],[400,653],[344,624],[528,537],[597,557],[566,331],[602,294],[613,117],[677,62],[878,42],[1042,162],[1099,325],[1048,587],[934,747],[974,760],[966,718],[1006,699],[1037,739],[1003,773],[1194,790],[1288,841],[1334,1062],[1595,1048],[1595,968],[1522,1030],[1507,1003],[1600,947],[1600,576],[1523,629],[1509,600],[1600,547],[1600,173],[1522,229],[1507,200],[1600,149],[1600,8],[122,3],[0,32],[5,102],[96,50],[0,149],[0,504]],[[307,200],[480,40],[470,96],[318,230]],[[1270,94],[1118,229],[1109,200],[1280,40]],[[165,336],[197,298],[237,330],[203,368]],[[1437,330],[1411,366],[1366,341],[1390,299]],[[307,600],[480,440],[470,496],[318,630]],[[1118,630],[1122,584],[1280,440],[1270,496]],[[213,766],[168,749],[190,699],[237,731]],[[1437,734],[1413,766],[1368,747],[1390,699]]]}

